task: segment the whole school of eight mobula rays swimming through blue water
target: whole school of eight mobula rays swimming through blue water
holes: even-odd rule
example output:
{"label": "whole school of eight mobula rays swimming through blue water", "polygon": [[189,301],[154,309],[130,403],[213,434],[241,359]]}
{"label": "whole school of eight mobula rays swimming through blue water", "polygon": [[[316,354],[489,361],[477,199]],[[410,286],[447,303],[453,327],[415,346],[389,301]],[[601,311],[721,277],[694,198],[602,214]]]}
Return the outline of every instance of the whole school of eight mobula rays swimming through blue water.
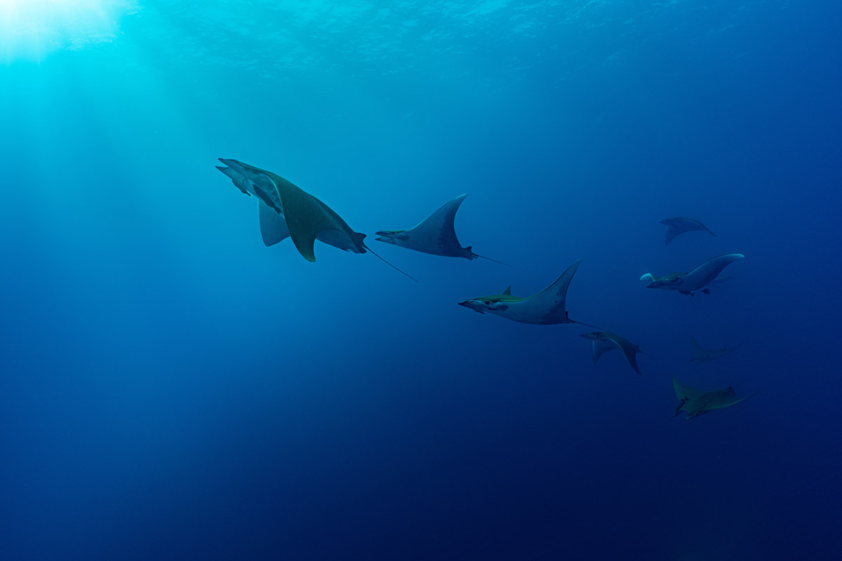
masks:
{"label": "whole school of eight mobula rays swimming through blue water", "polygon": [[[296,249],[301,253],[301,257],[310,262],[316,261],[316,241],[352,253],[374,253],[369,246],[365,245],[365,234],[351,229],[333,209],[312,194],[306,193],[274,172],[250,166],[242,161],[226,158],[219,158],[219,161],[224,166],[216,166],[216,169],[230,177],[234,186],[242,193],[258,199],[258,223],[264,245],[274,246],[286,238],[291,238]],[[376,236],[379,236],[376,241],[441,257],[461,257],[468,260],[482,257],[495,261],[475,253],[472,246],[462,247],[456,237],[454,228],[456,211],[466,196],[466,194],[461,194],[453,198],[408,230],[380,230],[376,233]],[[675,216],[661,220],[661,224],[667,226],[665,245],[669,245],[676,236],[691,231],[706,231],[711,236],[716,236],[708,230],[706,225],[695,219]],[[376,253],[374,255],[380,257]],[[649,282],[647,288],[675,290],[679,294],[690,296],[696,292],[711,294],[711,286],[721,284],[730,278],[729,275],[722,275],[722,270],[743,257],[741,253],[729,253],[712,257],[689,273],[669,273],[660,278],[652,273],[646,273],[641,280]],[[479,314],[498,315],[520,323],[589,325],[570,319],[565,305],[570,281],[573,280],[573,275],[581,263],[581,259],[573,262],[554,283],[538,294],[521,298],[513,296],[511,287],[507,287],[502,294],[477,296],[460,302],[459,305]],[[394,267],[391,263],[389,265]],[[394,268],[397,269],[397,267]],[[403,274],[409,277],[407,273]],[[413,280],[416,279],[413,278]],[[594,325],[589,326],[594,327]],[[640,347],[631,341],[604,330],[584,333],[582,337],[592,341],[594,365],[605,352],[619,349],[632,369],[638,374],[641,373],[637,366],[637,353],[641,352]],[[699,346],[695,338],[691,339],[693,357],[690,360],[694,362],[705,362],[723,357],[738,347],[704,349]],[[687,413],[685,419],[691,419],[711,410],[725,409],[751,397],[749,395],[738,398],[730,386],[712,391],[694,389],[675,378],[673,378],[673,387],[676,398],[679,400],[675,415],[678,415],[680,410],[684,410]]]}

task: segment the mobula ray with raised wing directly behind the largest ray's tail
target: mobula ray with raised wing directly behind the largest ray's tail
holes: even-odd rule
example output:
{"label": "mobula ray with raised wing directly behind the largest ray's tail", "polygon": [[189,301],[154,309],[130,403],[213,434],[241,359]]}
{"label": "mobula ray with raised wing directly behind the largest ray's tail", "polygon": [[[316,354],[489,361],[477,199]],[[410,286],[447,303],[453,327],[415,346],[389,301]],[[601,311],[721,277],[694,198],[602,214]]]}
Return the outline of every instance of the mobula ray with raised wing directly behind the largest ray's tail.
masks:
{"label": "mobula ray with raised wing directly behind the largest ray's tail", "polygon": [[[394,246],[406,247],[431,255],[464,257],[465,259],[482,257],[489,261],[495,261],[474,253],[472,246],[462,247],[456,238],[453,221],[456,219],[456,211],[466,197],[466,194],[462,194],[450,200],[420,224],[409,230],[380,230],[376,233],[377,236],[380,236],[377,241],[385,241]],[[505,263],[501,264],[505,265]]]}

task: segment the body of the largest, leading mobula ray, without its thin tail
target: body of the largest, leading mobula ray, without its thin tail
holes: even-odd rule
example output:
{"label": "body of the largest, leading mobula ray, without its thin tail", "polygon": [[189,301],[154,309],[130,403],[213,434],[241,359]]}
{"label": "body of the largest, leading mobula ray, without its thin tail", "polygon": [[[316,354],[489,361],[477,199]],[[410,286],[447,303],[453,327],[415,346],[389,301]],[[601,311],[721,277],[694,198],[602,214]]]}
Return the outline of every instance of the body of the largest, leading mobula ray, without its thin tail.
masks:
{"label": "body of the largest, leading mobula ray, without its thin tail", "polygon": [[[283,177],[242,161],[220,158],[216,168],[231,177],[243,193],[260,200],[260,232],[267,246],[291,237],[307,261],[316,261],[315,242],[353,253],[365,253],[365,234],[354,232],[342,218],[310,193]],[[265,207],[265,208],[264,208]]]}

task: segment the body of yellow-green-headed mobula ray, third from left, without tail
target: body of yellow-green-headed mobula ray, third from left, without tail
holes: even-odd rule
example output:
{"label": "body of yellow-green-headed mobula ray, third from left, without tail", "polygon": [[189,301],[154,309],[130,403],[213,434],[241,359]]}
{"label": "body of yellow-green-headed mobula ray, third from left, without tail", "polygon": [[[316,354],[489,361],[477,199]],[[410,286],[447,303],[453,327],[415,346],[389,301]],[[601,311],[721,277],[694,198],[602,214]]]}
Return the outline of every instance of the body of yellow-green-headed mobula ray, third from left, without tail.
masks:
{"label": "body of yellow-green-headed mobula ray, third from left, without tail", "polygon": [[576,273],[581,259],[573,262],[555,283],[540,293],[528,298],[512,296],[511,288],[506,288],[503,294],[491,294],[479,298],[460,302],[459,305],[470,308],[480,314],[499,315],[507,320],[536,325],[552,325],[557,323],[576,323],[568,318],[565,309],[565,299],[573,275]]}

